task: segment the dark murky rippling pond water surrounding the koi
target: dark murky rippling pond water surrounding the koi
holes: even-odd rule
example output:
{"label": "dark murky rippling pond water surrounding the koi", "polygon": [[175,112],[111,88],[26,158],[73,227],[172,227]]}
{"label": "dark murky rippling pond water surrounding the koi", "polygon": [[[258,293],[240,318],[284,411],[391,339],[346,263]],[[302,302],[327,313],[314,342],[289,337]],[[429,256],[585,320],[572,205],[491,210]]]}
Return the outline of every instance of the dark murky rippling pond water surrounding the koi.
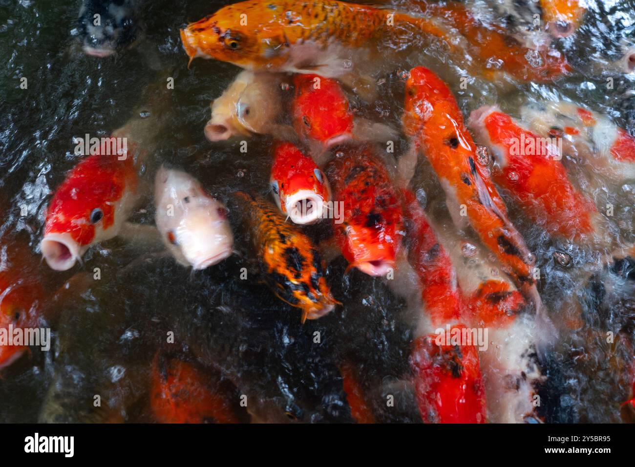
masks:
{"label": "dark murky rippling pond water surrounding the koi", "polygon": [[[56,291],[67,280],[74,287],[53,305],[54,351],[33,351],[0,377],[0,421],[46,420],[152,421],[148,384],[152,356],[175,333],[175,345],[212,367],[234,393],[253,401],[255,418],[266,421],[351,421],[338,365],[350,362],[371,396],[378,421],[419,422],[417,406],[407,390],[396,407],[387,409],[385,394],[399,391],[398,381],[410,377],[408,355],[412,317],[403,298],[389,290],[385,280],[354,270],[345,275],[341,257],[330,264],[328,281],[344,308],[317,321],[300,324],[298,311],[274,297],[257,279],[250,241],[229,199],[236,189],[267,194],[271,139],[248,140],[248,152],[239,140],[211,144],[203,135],[210,101],[231,83],[239,69],[213,60],[196,60],[187,69],[178,29],[216,11],[224,3],[167,1],[146,7],[145,37],[117,57],[97,59],[79,51],[76,1],[19,2],[0,0],[0,235],[1,247],[11,242],[29,245],[39,261],[38,243],[50,194],[76,165],[72,138],[90,133],[107,136],[130,118],[147,111],[148,86],[174,78],[168,126],[157,141],[154,161],[164,161],[195,175],[230,208],[235,244],[241,255],[204,271],[190,273],[170,258],[156,255],[150,245],[127,245],[115,239],[91,248],[83,266],[56,273],[41,264],[37,275],[53,304]],[[600,6],[591,2],[591,10]],[[612,17],[635,15],[632,2],[604,4]],[[466,90],[458,86],[460,58],[448,58],[432,44],[408,56],[401,69],[426,65],[450,83],[464,114],[483,104],[498,103],[518,116],[528,100],[568,97],[605,112],[620,122],[615,109],[620,95],[632,88],[628,77],[610,74],[587,59],[601,55],[601,28],[593,21],[579,34],[563,39],[559,47],[577,72],[556,85],[509,85],[472,77]],[[593,49],[593,47],[595,49]],[[598,58],[599,60],[599,58]],[[399,125],[403,79],[398,69],[382,69],[385,82],[372,105],[353,102],[359,114]],[[607,76],[615,89],[607,91]],[[28,88],[20,89],[20,78]],[[635,80],[635,78],[631,78]],[[150,87],[150,95],[152,88]],[[148,107],[149,108],[149,107]],[[406,147],[404,140],[396,152]],[[443,203],[441,190],[425,163],[415,184],[425,190],[429,206]],[[593,173],[580,173],[580,183]],[[150,177],[150,180],[152,177]],[[635,184],[605,186],[593,194],[598,205],[613,203],[608,219],[618,243],[632,243]],[[435,204],[436,203],[436,204]],[[131,220],[152,224],[151,198]],[[20,212],[26,208],[26,215]],[[589,264],[598,257],[575,245],[551,241],[510,206],[511,217],[541,269],[540,292],[561,330],[550,353],[540,389],[542,415],[547,422],[632,421],[632,409],[620,410],[629,398],[632,351],[625,344],[634,332],[632,264],[594,273]],[[233,214],[232,214],[233,212]],[[330,236],[330,227],[306,229],[315,240]],[[572,257],[566,267],[554,261],[554,252]],[[26,260],[25,260],[26,261]],[[101,279],[92,279],[93,268]],[[247,267],[250,280],[240,280]],[[621,269],[620,269],[621,267]],[[604,290],[602,293],[601,290]],[[600,292],[598,292],[600,291]],[[582,316],[586,326],[563,324]],[[606,344],[606,331],[618,337]],[[314,333],[321,344],[314,344]],[[107,400],[93,407],[94,395]],[[242,415],[247,419],[246,414]]]}

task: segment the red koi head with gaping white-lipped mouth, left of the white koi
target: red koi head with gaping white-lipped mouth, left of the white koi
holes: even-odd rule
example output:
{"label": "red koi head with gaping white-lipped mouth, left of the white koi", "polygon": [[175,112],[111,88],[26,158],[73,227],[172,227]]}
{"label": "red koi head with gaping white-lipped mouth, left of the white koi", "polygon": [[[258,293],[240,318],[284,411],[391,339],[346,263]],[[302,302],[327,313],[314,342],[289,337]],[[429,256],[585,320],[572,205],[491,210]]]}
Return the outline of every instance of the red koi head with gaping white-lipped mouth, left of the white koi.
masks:
{"label": "red koi head with gaping white-lipped mouth, left of the white koi", "polygon": [[53,195],[46,215],[42,255],[51,269],[74,266],[91,245],[117,235],[117,208],[136,190],[131,158],[99,154],[83,159]]}

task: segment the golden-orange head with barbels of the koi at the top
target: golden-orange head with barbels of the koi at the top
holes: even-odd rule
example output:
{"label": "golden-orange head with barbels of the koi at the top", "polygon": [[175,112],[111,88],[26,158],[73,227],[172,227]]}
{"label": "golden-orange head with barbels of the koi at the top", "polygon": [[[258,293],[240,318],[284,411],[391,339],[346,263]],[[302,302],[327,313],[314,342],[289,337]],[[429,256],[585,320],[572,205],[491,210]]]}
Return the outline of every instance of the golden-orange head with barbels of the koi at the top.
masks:
{"label": "golden-orange head with barbels of the koi at the top", "polygon": [[[253,3],[265,16],[272,16],[263,5]],[[190,61],[196,57],[204,57],[248,69],[257,65],[264,66],[267,57],[262,53],[262,48],[271,45],[271,38],[266,37],[269,35],[266,27],[262,29],[258,25],[247,25],[246,11],[249,10],[228,5],[182,29],[181,41]],[[253,15],[250,18],[255,18],[257,13],[250,15]]]}

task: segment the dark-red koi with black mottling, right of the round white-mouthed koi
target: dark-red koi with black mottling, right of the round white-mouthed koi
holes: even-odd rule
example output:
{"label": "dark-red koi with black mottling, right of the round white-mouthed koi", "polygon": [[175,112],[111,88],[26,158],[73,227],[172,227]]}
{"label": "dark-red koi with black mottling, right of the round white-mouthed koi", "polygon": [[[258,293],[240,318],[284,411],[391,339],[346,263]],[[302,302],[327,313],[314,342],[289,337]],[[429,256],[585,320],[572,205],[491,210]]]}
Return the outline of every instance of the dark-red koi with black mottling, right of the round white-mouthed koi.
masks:
{"label": "dark-red koi with black mottling, right of the round white-mouthed koi", "polygon": [[333,229],[349,269],[385,276],[395,267],[404,235],[401,202],[385,166],[361,146],[333,159],[326,174],[333,200],[344,203],[344,220],[333,219]]}

